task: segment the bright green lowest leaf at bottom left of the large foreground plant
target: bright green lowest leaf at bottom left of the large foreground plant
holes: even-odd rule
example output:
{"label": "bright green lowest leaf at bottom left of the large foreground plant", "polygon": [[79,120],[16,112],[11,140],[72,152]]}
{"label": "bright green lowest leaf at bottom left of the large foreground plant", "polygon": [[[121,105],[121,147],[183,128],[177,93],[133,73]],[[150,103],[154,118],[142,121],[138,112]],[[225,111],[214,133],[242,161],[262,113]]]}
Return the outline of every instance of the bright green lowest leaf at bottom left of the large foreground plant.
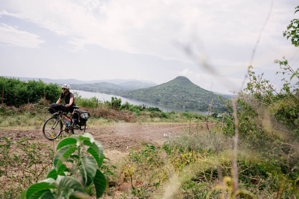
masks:
{"label": "bright green lowest leaf at bottom left of the large foreground plant", "polygon": [[[35,184],[32,184],[26,192],[26,198],[27,199],[33,199],[33,198],[39,198],[44,192],[50,189],[55,189],[56,187],[53,185],[50,185],[49,182],[38,182]],[[31,197],[32,196],[32,197]]]}

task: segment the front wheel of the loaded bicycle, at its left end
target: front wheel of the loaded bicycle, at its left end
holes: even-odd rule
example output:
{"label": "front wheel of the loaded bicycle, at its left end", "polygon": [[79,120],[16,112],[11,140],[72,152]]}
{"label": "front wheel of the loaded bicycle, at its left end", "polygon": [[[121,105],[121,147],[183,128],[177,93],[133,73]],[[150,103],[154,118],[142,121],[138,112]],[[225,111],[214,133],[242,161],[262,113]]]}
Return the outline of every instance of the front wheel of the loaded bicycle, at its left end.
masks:
{"label": "front wheel of the loaded bicycle, at its left end", "polygon": [[62,128],[58,117],[50,117],[43,125],[43,135],[47,140],[55,140],[61,134]]}

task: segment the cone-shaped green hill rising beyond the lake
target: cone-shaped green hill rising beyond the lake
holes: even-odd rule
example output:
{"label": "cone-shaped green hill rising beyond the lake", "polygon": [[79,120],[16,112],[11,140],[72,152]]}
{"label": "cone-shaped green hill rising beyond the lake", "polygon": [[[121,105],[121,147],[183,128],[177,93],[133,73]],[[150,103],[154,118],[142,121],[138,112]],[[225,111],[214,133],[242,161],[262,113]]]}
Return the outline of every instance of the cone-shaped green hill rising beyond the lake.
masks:
{"label": "cone-shaped green hill rising beyond the lake", "polygon": [[[149,102],[158,102],[164,105],[184,106],[200,111],[208,111],[209,104],[213,99],[210,91],[200,88],[183,76],[178,76],[158,86],[124,92],[121,96]],[[212,111],[224,112],[224,106],[218,99],[218,95],[214,95],[214,97]]]}

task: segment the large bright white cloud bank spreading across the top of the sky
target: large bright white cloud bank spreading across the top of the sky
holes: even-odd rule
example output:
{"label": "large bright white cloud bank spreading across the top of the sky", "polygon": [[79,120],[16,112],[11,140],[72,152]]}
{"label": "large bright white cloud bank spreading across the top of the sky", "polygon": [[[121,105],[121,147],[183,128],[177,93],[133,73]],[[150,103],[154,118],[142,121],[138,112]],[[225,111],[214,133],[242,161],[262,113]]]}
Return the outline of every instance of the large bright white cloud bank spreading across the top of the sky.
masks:
{"label": "large bright white cloud bank spreading across the top of the sky", "polygon": [[[240,51],[250,57],[270,2],[35,0],[28,3],[14,0],[2,3],[0,15],[31,21],[59,36],[70,37],[68,43],[76,50],[83,50],[86,45],[98,45],[190,62],[196,60],[188,58],[173,43],[193,43],[196,40],[192,36],[198,35],[202,40],[199,49],[205,51],[203,46],[206,46],[211,59],[232,61]],[[274,32],[281,34],[286,22],[292,19],[287,18],[292,13],[286,16],[285,12],[292,0],[275,3],[263,34],[269,40],[276,36]],[[221,52],[223,49],[226,52]]]}

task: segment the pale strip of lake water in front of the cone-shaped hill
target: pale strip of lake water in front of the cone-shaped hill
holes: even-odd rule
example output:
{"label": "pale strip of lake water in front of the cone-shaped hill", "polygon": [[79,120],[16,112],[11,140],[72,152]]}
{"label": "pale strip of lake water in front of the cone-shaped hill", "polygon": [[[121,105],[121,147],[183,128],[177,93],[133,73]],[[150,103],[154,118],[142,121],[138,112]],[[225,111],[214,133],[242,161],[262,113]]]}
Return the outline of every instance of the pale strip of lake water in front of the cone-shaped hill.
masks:
{"label": "pale strip of lake water in front of the cone-shaped hill", "polygon": [[200,114],[204,114],[207,115],[208,112],[203,112],[203,111],[197,111],[197,110],[193,110],[193,109],[188,109],[188,108],[183,108],[183,107],[176,107],[176,106],[166,106],[166,105],[160,105],[156,102],[147,102],[147,101],[142,101],[142,100],[133,100],[133,99],[129,99],[126,97],[121,97],[121,96],[117,96],[117,95],[109,95],[109,94],[105,94],[105,93],[100,93],[100,92],[88,92],[88,91],[79,91],[79,90],[72,90],[71,92],[78,92],[79,95],[81,95],[82,97],[97,97],[97,99],[101,100],[101,101],[111,101],[111,97],[117,97],[117,98],[121,98],[121,102],[122,104],[125,103],[126,101],[128,101],[130,104],[134,104],[134,105],[140,105],[140,104],[146,104],[149,107],[158,107],[159,109],[163,110],[163,112],[170,112],[172,110],[176,111],[176,112],[185,112],[190,111],[190,112],[196,112],[196,113],[200,113]]}

